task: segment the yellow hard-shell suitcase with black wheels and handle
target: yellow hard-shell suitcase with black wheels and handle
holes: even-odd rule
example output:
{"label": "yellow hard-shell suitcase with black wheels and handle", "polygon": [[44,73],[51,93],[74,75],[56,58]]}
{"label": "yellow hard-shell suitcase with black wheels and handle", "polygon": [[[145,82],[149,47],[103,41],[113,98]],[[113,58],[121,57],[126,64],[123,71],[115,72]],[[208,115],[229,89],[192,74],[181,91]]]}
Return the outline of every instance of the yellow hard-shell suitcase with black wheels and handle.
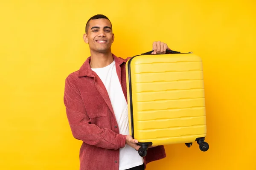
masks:
{"label": "yellow hard-shell suitcase with black wheels and handle", "polygon": [[149,146],[197,142],[207,151],[202,60],[192,52],[152,51],[126,62],[130,135],[146,156]]}

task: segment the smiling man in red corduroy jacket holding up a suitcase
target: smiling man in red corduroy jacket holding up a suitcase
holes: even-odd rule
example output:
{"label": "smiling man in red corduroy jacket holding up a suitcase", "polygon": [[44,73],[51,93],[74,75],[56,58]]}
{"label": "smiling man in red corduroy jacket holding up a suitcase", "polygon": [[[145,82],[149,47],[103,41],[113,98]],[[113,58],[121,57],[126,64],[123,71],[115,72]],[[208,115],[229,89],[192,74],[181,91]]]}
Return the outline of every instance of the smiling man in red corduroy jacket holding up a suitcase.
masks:
{"label": "smiling man in red corduroy jacket holding up a suitcase", "polygon": [[[144,170],[146,164],[166,157],[163,146],[148,148],[140,157],[137,140],[129,135],[125,63],[111,52],[114,41],[108,17],[95,15],[83,36],[91,56],[65,82],[64,104],[74,138],[83,141],[80,170]],[[152,54],[168,46],[153,43]]]}

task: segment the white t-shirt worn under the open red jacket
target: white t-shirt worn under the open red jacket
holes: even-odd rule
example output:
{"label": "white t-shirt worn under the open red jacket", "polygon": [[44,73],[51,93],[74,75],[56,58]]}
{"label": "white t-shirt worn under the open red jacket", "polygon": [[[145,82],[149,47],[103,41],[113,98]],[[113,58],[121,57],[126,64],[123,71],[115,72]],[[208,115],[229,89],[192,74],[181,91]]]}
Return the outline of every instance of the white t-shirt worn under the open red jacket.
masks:
{"label": "white t-shirt worn under the open red jacket", "polygon": [[[129,135],[128,105],[116,73],[115,61],[104,68],[92,68],[92,70],[99,76],[108,91],[119,133]],[[119,170],[129,169],[141,164],[143,164],[143,158],[137,150],[127,144],[119,149]]]}

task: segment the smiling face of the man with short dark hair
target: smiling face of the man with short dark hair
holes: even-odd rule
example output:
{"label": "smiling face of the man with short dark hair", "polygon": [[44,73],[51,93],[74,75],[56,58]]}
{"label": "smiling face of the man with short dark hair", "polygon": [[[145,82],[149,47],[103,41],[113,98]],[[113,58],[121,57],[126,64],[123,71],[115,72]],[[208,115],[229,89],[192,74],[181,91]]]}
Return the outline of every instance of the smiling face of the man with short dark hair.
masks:
{"label": "smiling face of the man with short dark hair", "polygon": [[113,41],[114,34],[109,20],[105,18],[90,20],[87,34],[84,34],[84,42],[89,44],[91,51],[109,52]]}

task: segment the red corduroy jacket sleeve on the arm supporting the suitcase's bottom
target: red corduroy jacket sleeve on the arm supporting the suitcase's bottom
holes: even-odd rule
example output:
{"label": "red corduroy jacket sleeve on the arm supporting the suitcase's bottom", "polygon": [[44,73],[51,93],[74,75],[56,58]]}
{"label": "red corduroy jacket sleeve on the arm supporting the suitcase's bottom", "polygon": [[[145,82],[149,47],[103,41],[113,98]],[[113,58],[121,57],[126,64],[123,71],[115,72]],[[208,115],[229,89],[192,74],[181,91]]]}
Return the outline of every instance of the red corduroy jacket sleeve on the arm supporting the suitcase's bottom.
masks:
{"label": "red corduroy jacket sleeve on the arm supporting the suitcase's bottom", "polygon": [[79,89],[75,80],[70,76],[65,81],[64,105],[74,138],[105,149],[116,150],[125,146],[126,135],[90,124]]}

